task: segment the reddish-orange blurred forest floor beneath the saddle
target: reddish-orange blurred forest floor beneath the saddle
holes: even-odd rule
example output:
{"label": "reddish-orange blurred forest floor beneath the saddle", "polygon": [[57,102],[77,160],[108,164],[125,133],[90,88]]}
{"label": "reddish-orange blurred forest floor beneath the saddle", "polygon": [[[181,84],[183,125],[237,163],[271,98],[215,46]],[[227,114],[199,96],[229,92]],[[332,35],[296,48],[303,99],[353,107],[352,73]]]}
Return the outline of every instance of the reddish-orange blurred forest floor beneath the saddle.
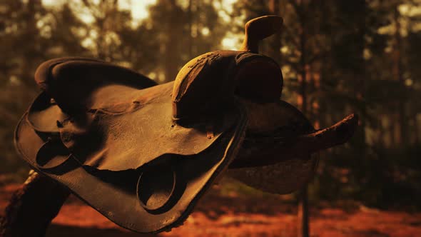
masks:
{"label": "reddish-orange blurred forest floor beneath the saddle", "polygon": [[[0,187],[0,215],[19,185]],[[221,195],[221,193],[224,193]],[[214,186],[183,226],[158,236],[296,236],[296,205],[285,196],[221,192]],[[319,203],[310,209],[310,236],[421,236],[421,213]],[[71,196],[49,231],[54,236],[132,237],[93,208]],[[146,235],[153,236],[153,235]]]}

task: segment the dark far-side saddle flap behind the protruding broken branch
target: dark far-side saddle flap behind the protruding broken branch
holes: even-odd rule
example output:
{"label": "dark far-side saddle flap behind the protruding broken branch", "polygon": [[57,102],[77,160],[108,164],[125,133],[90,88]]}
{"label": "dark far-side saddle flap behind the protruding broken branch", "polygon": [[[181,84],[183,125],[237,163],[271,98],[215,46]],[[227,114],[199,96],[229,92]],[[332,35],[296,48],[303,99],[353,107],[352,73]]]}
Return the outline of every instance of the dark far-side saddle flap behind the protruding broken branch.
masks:
{"label": "dark far-side saddle flap behind the protruding broken branch", "polygon": [[[250,141],[250,135],[253,138],[260,136],[263,140],[269,141],[269,144],[273,144],[270,140],[276,136],[279,141],[278,146],[282,147],[288,146],[290,139],[296,136],[315,131],[310,121],[285,101],[266,104],[256,104],[248,100],[241,102],[248,111],[248,128],[242,147],[256,146],[255,141]],[[283,142],[280,142],[280,139],[283,139]],[[264,147],[260,144],[261,150],[254,153],[244,153],[246,149],[240,150],[239,156],[230,163],[227,175],[260,191],[275,194],[297,191],[315,175],[319,160],[317,153],[293,156],[288,153],[273,152],[270,145],[266,146],[268,151]],[[270,158],[268,156],[274,157],[273,160],[277,163],[256,166],[255,163],[248,162],[262,157],[268,159]]]}

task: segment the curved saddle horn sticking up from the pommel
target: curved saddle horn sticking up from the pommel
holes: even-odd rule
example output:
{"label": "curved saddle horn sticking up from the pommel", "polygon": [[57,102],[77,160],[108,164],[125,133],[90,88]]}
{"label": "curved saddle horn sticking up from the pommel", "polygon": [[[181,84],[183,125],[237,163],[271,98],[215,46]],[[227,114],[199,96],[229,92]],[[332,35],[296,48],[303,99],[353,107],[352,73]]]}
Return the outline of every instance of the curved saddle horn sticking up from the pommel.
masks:
{"label": "curved saddle horn sticking up from the pommel", "polygon": [[283,26],[283,19],[280,16],[260,16],[251,19],[245,24],[245,36],[240,51],[250,51],[258,54],[259,41],[280,32]]}

